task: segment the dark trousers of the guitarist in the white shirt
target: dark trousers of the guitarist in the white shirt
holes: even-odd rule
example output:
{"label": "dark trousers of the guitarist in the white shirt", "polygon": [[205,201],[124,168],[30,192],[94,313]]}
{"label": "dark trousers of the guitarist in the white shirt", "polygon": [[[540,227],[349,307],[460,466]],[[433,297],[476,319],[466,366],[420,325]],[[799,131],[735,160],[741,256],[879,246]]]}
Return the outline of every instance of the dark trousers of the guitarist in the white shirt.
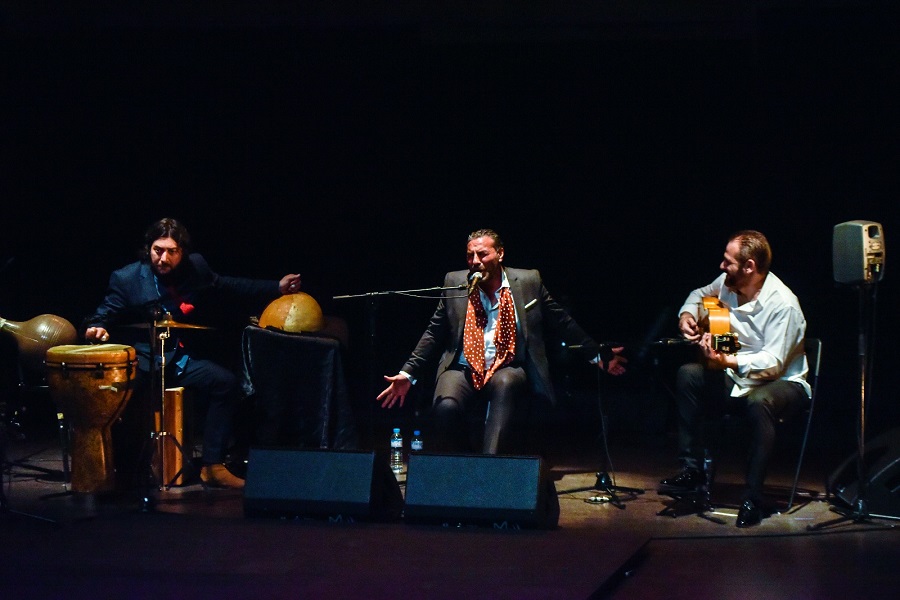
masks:
{"label": "dark trousers of the guitarist in the white shirt", "polygon": [[720,445],[722,417],[745,417],[750,425],[747,491],[744,498],[762,501],[762,487],[772,449],[775,424],[809,404],[800,384],[776,380],[755,387],[741,397],[731,396],[734,382],[725,371],[687,363],[678,369],[675,400],[678,406],[679,459],[687,468],[702,469],[707,450]]}

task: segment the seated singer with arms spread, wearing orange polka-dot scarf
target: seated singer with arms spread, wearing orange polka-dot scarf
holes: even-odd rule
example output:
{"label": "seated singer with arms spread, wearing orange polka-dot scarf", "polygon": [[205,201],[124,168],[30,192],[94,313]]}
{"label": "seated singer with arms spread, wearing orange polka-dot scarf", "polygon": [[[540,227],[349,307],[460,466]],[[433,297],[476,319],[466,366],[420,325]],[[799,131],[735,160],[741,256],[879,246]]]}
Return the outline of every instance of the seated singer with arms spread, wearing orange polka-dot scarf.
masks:
{"label": "seated singer with arms spread, wearing orange polka-dot scarf", "polygon": [[439,357],[432,407],[438,450],[470,449],[467,416],[483,413],[481,452],[502,452],[523,394],[530,391],[555,402],[546,328],[610,374],[625,371],[621,347],[595,342],[553,299],[538,271],[505,267],[503,258],[503,242],[495,231],[469,234],[468,270],[446,274],[444,287],[449,289],[428,328],[400,372],[385,376],[389,385],[378,395],[384,408],[403,406],[418,375]]}

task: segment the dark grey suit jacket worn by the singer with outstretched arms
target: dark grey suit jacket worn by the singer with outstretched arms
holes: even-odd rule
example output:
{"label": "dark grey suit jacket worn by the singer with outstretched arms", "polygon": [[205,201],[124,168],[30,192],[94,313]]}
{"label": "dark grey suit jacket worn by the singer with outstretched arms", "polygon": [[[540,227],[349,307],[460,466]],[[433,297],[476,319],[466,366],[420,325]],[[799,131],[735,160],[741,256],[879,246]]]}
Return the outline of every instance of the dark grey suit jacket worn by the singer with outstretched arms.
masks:
{"label": "dark grey suit jacket worn by the singer with outstretched arms", "polygon": [[[508,267],[505,270],[519,320],[514,364],[525,369],[532,392],[555,402],[544,341],[545,328],[554,330],[570,346],[580,346],[580,352],[586,358],[597,356],[600,347],[550,296],[537,270]],[[444,287],[464,285],[468,274],[466,270],[447,273]],[[444,292],[428,328],[403,365],[403,371],[417,377],[426,363],[440,353],[437,369],[440,377],[441,373],[458,360],[462,349],[467,304],[465,290]]]}

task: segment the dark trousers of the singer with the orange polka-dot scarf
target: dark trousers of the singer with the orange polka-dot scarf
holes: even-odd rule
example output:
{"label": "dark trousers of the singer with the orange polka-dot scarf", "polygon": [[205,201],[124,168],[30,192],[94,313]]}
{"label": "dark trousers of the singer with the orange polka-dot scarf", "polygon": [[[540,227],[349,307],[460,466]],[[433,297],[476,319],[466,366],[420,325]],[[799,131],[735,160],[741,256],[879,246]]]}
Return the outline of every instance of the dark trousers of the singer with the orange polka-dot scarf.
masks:
{"label": "dark trousers of the singer with the orange polka-dot scarf", "polygon": [[516,401],[527,390],[525,370],[497,370],[481,390],[472,386],[468,369],[448,369],[438,377],[434,391],[433,418],[437,446],[444,452],[468,452],[478,447],[482,454],[497,454],[509,438]]}

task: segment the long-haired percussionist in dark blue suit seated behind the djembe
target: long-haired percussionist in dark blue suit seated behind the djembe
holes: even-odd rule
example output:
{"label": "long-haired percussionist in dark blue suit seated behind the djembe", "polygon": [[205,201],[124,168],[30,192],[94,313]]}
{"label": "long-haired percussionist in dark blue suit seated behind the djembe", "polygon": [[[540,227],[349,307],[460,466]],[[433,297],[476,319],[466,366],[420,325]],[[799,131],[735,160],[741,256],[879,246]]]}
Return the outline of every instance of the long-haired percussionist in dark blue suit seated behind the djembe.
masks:
{"label": "long-haired percussionist in dark blue suit seated behind the djembe", "polygon": [[[300,289],[297,274],[285,275],[280,281],[219,275],[203,256],[191,252],[190,235],[175,219],[153,223],[144,235],[139,255],[137,262],[110,276],[106,296],[85,321],[84,338],[87,342],[108,342],[110,332],[115,332],[115,343],[134,347],[142,379],[155,373],[162,363],[159,341],[152,340],[146,329],[117,329],[117,325],[143,323],[149,328],[163,318],[178,324],[197,324],[217,304],[249,300],[265,307],[280,294]],[[240,400],[238,378],[217,362],[192,354],[189,331],[169,328],[164,354],[166,387],[185,387],[194,392],[194,397],[208,402],[201,478],[214,486],[242,488],[243,479],[223,464]]]}

